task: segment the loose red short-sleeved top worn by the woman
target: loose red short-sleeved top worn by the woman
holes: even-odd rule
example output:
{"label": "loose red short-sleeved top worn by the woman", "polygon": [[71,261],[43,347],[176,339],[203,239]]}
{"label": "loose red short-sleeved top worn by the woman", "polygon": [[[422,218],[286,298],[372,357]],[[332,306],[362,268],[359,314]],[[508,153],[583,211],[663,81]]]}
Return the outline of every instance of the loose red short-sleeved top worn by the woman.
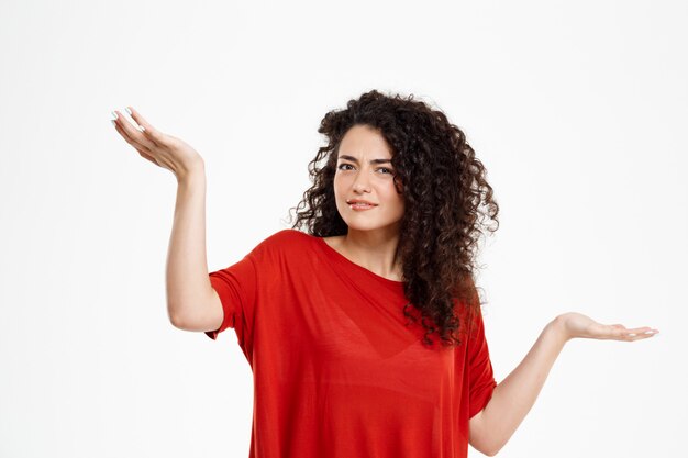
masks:
{"label": "loose red short-sleeved top worn by the woman", "polygon": [[458,347],[404,326],[401,282],[280,231],[210,273],[254,377],[249,458],[458,458],[497,384],[481,314]]}

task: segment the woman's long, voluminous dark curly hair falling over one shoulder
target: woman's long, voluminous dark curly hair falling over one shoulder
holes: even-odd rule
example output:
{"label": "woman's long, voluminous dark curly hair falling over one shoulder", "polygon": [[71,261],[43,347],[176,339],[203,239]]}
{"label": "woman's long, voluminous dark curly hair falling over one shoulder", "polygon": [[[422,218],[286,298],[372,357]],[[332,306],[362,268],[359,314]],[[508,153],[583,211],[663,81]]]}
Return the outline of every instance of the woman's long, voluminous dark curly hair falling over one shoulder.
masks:
{"label": "woman's long, voluminous dark curly hair falling over one shoulder", "polygon": [[[404,200],[396,255],[410,301],[403,306],[407,325],[418,323],[420,313],[423,344],[432,346],[430,335],[437,332],[444,346],[459,345],[459,319],[474,323],[470,317],[480,308],[474,275],[478,242],[485,235],[481,227],[497,231],[499,206],[482,163],[442,111],[414,100],[413,94],[404,98],[371,90],[349,100],[345,109],[326,113],[318,132],[328,144],[309,163],[312,186],[290,209],[290,213],[296,210],[292,228],[304,227],[318,237],[347,233],[333,182],[339,145],[359,124],[376,129],[389,144],[395,185]],[[486,226],[486,219],[497,225]],[[457,303],[465,306],[456,311]]]}

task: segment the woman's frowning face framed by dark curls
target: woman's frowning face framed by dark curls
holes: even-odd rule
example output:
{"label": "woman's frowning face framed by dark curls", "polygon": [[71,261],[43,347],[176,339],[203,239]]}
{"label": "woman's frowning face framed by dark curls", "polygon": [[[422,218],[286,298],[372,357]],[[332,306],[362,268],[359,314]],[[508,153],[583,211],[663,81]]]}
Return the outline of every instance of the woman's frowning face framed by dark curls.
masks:
{"label": "woman's frowning face framed by dark curls", "polygon": [[337,152],[334,197],[349,230],[398,233],[404,206],[393,174],[391,149],[378,131],[354,125],[346,132]]}

